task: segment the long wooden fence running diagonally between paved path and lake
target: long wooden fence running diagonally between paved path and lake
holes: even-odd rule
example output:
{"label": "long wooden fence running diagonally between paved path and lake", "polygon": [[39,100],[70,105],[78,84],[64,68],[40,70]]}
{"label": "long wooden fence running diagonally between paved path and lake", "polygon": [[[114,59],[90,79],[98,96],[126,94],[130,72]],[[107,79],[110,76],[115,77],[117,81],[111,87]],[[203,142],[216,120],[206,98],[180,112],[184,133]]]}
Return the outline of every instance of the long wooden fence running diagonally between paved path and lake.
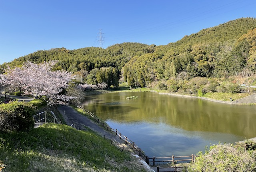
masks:
{"label": "long wooden fence running diagonally between paved path and lake", "polygon": [[101,125],[103,128],[105,128],[106,130],[108,130],[109,132],[112,132],[113,134],[116,134],[116,136],[119,137],[119,139],[122,139],[126,142],[126,144],[130,144],[137,152],[137,154],[144,158],[144,160],[146,160],[146,155],[144,154],[144,152],[142,152],[142,150],[135,144],[135,142],[133,142],[132,140],[128,139],[126,136],[122,135],[121,132],[119,132],[117,129],[113,129],[110,128],[108,126],[108,124],[106,124],[105,122],[103,122],[102,120],[100,120],[100,118],[98,118],[96,115],[94,115],[94,113],[82,108],[82,106],[76,106],[78,108],[80,108],[81,110],[83,110],[84,112],[86,112],[88,115],[90,115],[96,122],[98,122],[99,125]]}

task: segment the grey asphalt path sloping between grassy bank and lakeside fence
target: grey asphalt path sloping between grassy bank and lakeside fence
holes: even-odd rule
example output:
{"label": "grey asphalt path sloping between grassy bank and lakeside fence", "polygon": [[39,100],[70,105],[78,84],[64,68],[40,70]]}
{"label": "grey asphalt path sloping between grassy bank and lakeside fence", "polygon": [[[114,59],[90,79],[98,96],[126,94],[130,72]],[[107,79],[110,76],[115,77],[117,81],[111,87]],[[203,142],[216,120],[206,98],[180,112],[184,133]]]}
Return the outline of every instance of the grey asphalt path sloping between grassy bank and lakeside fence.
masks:
{"label": "grey asphalt path sloping between grassy bank and lakeside fence", "polygon": [[114,138],[119,143],[124,143],[123,140],[120,140],[116,134],[112,134],[105,130],[104,128],[100,127],[96,122],[93,120],[90,120],[84,115],[81,115],[80,113],[76,112],[73,108],[70,106],[58,106],[58,111],[62,114],[64,117],[64,120],[66,121],[67,125],[71,126],[72,124],[75,124],[80,129],[85,130],[85,126],[90,128],[91,130],[97,132],[100,134],[100,136],[108,136],[108,138]]}

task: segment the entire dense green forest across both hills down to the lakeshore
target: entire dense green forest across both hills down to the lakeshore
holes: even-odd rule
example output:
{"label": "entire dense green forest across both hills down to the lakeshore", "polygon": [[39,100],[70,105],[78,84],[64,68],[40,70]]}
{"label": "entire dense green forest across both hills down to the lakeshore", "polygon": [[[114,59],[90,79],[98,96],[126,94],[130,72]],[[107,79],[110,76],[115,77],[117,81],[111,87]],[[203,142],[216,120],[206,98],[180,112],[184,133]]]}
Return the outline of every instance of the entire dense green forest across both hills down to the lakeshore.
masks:
{"label": "entire dense green forest across both hills down to the lakeshore", "polygon": [[108,86],[116,87],[120,78],[131,87],[170,92],[236,92],[238,84],[246,84],[238,78],[252,78],[256,69],[256,18],[232,20],[162,46],[126,42],[106,49],[38,50],[2,67],[21,66],[27,60],[58,60],[56,70],[73,72],[78,82],[87,84],[108,80]]}

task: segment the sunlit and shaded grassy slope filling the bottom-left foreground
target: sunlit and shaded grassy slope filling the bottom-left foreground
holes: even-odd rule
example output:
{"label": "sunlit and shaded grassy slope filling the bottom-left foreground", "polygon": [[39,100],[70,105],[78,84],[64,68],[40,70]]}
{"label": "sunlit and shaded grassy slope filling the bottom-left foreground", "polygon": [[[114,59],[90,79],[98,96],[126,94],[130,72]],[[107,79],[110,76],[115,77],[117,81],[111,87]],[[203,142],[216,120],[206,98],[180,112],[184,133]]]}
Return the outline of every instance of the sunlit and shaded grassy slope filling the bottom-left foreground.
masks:
{"label": "sunlit and shaded grassy slope filling the bottom-left foreground", "polygon": [[60,124],[0,133],[0,160],[3,172],[145,171],[104,138]]}

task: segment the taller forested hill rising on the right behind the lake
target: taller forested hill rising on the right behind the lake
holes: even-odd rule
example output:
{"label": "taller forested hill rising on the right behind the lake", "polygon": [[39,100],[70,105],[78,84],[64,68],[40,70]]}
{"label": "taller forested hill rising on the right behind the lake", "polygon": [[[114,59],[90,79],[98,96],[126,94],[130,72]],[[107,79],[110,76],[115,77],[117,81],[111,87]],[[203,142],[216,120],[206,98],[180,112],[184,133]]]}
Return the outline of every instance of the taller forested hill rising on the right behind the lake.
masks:
{"label": "taller forested hill rising on the right behind the lake", "polygon": [[240,18],[157,46],[152,54],[134,56],[124,66],[124,77],[148,86],[177,77],[228,77],[246,66],[255,70],[255,28],[255,18]]}

